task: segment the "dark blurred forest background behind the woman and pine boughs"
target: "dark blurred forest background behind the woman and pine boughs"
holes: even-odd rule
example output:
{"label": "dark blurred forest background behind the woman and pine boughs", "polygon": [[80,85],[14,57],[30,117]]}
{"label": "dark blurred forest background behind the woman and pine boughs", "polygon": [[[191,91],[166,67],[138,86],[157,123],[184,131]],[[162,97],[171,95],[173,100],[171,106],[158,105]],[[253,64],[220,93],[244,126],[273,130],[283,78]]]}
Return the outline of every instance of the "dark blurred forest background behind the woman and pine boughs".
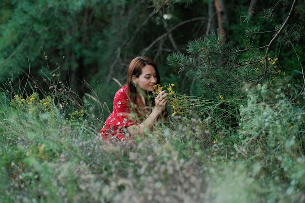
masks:
{"label": "dark blurred forest background behind the woman and pine boughs", "polygon": [[[2,0],[0,79],[32,92],[61,80],[84,98],[96,92],[112,107],[131,59],[147,55],[163,84],[198,95],[196,77],[171,66],[168,55],[186,55],[191,40],[215,34],[229,47],[266,51],[295,80],[304,63],[304,1],[289,26],[267,47],[291,9],[288,0]],[[289,32],[289,36],[287,33]],[[249,38],[245,38],[248,35]],[[47,81],[46,81],[47,80]],[[219,81],[221,83],[222,81]],[[247,82],[247,81],[245,81]],[[5,89],[5,88],[4,88]],[[39,92],[39,89],[38,89]],[[107,114],[107,113],[106,113]]]}

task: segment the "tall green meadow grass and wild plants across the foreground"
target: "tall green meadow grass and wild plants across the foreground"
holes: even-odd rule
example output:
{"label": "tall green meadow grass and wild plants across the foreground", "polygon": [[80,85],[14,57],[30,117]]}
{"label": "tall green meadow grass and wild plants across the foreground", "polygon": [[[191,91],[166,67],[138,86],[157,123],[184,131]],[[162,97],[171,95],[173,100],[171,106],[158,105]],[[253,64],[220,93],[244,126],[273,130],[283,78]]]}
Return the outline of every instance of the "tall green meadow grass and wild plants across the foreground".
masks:
{"label": "tall green meadow grass and wild plants across the foreground", "polygon": [[[243,106],[233,100],[223,106],[231,111],[201,100],[197,117],[171,115],[145,137],[114,143],[100,140],[102,122],[85,108],[96,103],[60,108],[58,101],[69,103],[69,95],[3,93],[1,202],[304,202],[304,110],[294,105],[303,98],[291,100],[292,89],[289,97],[283,92],[274,96],[272,87],[259,86]],[[185,96],[175,99],[178,107]],[[232,114],[239,127],[228,128],[219,117]],[[281,123],[291,130],[279,129]]]}

